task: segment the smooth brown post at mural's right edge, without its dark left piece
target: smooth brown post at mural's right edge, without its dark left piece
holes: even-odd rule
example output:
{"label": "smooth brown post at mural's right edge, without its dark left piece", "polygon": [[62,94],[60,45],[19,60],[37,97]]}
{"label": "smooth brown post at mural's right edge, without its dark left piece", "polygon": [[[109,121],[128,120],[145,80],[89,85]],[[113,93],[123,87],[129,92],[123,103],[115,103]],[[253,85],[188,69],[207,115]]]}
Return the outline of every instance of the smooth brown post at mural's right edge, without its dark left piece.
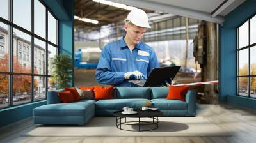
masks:
{"label": "smooth brown post at mural's right edge, without its dark left piece", "polygon": [[[205,36],[205,61],[204,61],[204,81],[218,80],[216,73],[216,63],[218,58],[217,54],[217,37],[216,37],[216,24],[213,22],[205,22],[204,24],[204,36]],[[204,86],[205,102],[216,104],[219,103],[218,93],[216,93],[215,86],[213,84],[207,84]]]}

